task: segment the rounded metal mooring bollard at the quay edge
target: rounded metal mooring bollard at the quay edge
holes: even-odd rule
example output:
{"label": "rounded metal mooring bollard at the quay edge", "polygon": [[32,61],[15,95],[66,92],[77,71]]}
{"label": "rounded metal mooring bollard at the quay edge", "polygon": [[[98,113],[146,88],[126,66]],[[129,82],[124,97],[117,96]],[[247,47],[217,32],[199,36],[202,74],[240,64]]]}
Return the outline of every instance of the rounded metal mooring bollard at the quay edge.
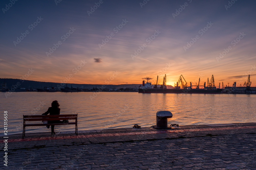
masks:
{"label": "rounded metal mooring bollard at the quay edge", "polygon": [[167,119],[172,118],[173,114],[170,111],[158,111],[156,112],[156,128],[164,129],[168,128]]}

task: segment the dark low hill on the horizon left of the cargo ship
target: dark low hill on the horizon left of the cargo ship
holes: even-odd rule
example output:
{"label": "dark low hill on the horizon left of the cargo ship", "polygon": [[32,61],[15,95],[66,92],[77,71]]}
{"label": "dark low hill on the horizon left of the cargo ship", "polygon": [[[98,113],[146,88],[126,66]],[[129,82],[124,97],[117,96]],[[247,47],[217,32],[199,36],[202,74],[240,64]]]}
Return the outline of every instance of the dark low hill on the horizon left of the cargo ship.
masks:
{"label": "dark low hill on the horizon left of the cargo ship", "polygon": [[[39,81],[19,80],[19,79],[0,79],[0,83],[3,83],[4,81],[7,83],[7,88],[11,88],[13,85],[15,86],[19,83],[20,83],[20,85],[18,87],[26,88],[26,89],[28,89],[28,88],[44,89],[44,87],[62,88],[62,87],[66,86],[66,84],[64,84],[64,86],[63,86],[63,84],[61,84],[61,83],[54,83],[54,82],[39,82]],[[97,88],[104,87],[104,88],[108,88],[108,89],[119,89],[119,88],[136,88],[137,89],[141,84],[102,85],[102,84],[71,84],[71,83],[67,83],[68,87],[71,87],[71,85],[72,85],[72,87],[78,87],[78,88],[82,88],[82,89],[92,89],[93,87],[94,88],[95,87],[97,87]],[[153,87],[153,85],[152,85],[152,87]],[[173,88],[173,86],[167,85],[167,88]]]}

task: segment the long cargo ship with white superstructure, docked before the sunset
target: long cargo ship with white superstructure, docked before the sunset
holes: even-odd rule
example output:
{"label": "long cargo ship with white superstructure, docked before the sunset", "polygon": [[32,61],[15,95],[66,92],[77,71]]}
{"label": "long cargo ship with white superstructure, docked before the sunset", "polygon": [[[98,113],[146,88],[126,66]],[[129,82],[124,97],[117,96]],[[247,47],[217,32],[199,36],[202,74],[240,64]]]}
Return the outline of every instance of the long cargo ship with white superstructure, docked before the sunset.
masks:
{"label": "long cargo ship with white superstructure, docked before the sunset", "polygon": [[[208,79],[207,86],[206,86],[206,83],[204,83],[203,85],[204,88],[199,88],[200,78],[199,78],[198,85],[196,85],[196,88],[193,88],[191,82],[190,82],[190,86],[187,87],[187,82],[185,81],[182,75],[179,77],[179,81],[177,82],[176,86],[174,86],[174,88],[172,89],[166,88],[166,75],[164,76],[163,84],[160,87],[157,86],[157,82],[156,82],[156,84],[152,88],[151,82],[148,82],[148,79],[149,78],[147,77],[146,83],[143,80],[142,86],[140,86],[140,88],[138,89],[138,93],[221,94],[222,92],[222,89],[215,87],[213,75],[210,82]],[[157,76],[157,81],[158,81],[158,76]]]}

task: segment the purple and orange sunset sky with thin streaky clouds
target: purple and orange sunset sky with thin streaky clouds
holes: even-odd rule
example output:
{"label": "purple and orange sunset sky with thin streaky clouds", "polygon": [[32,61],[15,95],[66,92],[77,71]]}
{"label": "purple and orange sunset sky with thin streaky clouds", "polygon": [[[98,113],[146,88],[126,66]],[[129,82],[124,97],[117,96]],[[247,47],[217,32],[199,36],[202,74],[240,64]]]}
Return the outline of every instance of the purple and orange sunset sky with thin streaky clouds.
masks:
{"label": "purple and orange sunset sky with thin streaky clouds", "polygon": [[1,1],[0,78],[256,85],[256,1],[59,1]]}

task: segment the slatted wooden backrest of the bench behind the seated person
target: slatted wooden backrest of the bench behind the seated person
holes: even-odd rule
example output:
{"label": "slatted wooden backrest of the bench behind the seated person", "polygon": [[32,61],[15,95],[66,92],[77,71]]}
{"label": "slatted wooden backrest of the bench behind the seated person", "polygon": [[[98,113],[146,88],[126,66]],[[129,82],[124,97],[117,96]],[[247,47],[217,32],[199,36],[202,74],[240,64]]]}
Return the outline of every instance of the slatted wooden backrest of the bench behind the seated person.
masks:
{"label": "slatted wooden backrest of the bench behind the seated person", "polygon": [[23,121],[52,121],[52,120],[76,120],[77,122],[77,114],[23,115]]}

